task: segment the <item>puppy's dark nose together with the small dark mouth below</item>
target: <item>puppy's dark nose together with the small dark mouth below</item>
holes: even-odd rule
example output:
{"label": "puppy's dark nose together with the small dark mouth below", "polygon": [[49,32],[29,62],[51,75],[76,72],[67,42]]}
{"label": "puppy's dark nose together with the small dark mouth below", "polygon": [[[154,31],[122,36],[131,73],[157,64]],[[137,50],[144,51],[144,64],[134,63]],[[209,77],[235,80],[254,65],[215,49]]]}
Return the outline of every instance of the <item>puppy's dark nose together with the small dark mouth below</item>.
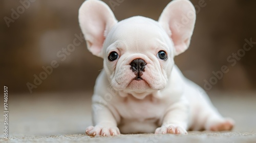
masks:
{"label": "puppy's dark nose together with the small dark mouth below", "polygon": [[136,77],[135,80],[142,80],[141,76],[143,75],[143,72],[145,71],[145,65],[146,62],[142,59],[135,59],[130,63],[131,67],[130,69],[133,70]]}

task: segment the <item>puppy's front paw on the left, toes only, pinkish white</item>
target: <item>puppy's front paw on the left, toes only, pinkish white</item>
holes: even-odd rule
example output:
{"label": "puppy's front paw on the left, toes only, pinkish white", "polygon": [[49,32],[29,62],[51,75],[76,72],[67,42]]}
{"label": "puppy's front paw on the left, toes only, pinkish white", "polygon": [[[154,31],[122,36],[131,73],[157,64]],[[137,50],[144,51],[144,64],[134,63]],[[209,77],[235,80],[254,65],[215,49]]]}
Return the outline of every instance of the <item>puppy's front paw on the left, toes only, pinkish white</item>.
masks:
{"label": "puppy's front paw on the left, toes only, pinkish white", "polygon": [[120,134],[120,131],[117,127],[90,126],[86,129],[86,134],[90,136],[115,136]]}

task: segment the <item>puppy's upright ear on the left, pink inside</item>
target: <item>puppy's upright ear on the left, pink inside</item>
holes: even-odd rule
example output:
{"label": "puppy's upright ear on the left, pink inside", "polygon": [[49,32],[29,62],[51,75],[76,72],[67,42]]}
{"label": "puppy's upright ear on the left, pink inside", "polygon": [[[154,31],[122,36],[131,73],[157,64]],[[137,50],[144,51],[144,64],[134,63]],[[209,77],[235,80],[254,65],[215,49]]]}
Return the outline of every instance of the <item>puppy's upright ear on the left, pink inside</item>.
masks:
{"label": "puppy's upright ear on the left, pink inside", "polygon": [[78,19],[89,51],[102,57],[101,50],[105,37],[117,23],[113,12],[101,1],[88,0],[81,5]]}

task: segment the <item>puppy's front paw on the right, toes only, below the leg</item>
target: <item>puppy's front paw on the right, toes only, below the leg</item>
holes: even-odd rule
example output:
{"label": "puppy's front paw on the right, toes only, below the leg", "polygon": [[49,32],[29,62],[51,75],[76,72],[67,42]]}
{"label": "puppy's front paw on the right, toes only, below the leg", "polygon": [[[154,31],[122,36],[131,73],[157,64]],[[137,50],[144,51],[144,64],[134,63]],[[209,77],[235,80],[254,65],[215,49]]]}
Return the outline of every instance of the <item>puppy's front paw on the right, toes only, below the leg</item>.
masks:
{"label": "puppy's front paw on the right, toes only, below the leg", "polygon": [[155,134],[187,134],[187,131],[175,125],[162,126],[156,129]]}

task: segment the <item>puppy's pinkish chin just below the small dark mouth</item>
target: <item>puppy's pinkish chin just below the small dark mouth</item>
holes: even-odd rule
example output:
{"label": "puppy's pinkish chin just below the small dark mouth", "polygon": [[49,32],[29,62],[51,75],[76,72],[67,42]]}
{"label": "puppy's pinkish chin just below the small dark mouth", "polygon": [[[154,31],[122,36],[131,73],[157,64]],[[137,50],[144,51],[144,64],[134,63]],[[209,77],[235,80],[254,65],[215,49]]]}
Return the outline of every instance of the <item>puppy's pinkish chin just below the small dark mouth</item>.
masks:
{"label": "puppy's pinkish chin just below the small dark mouth", "polygon": [[146,91],[152,88],[145,80],[132,80],[126,89],[133,91]]}

